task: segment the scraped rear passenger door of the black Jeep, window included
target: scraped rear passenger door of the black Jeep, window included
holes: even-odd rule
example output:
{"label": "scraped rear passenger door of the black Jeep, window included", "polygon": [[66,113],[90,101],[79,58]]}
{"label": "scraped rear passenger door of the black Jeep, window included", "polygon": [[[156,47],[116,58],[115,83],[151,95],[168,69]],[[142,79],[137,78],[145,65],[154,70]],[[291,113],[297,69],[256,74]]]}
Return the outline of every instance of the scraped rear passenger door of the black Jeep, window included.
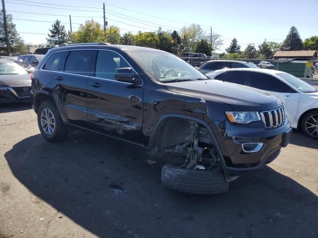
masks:
{"label": "scraped rear passenger door of the black Jeep, window included", "polygon": [[74,50],[65,54],[67,58],[64,70],[56,72],[51,83],[53,94],[63,119],[68,123],[86,127],[86,85],[96,52]]}

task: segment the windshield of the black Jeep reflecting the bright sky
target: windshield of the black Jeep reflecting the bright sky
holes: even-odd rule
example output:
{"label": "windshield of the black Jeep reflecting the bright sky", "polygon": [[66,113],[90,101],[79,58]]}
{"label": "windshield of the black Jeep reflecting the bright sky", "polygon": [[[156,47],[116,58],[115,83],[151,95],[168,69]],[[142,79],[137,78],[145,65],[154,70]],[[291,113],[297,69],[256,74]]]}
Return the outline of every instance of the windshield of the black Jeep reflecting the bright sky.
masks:
{"label": "windshield of the black Jeep reflecting the bright sky", "polygon": [[150,51],[128,51],[127,53],[158,82],[209,79],[199,70],[172,54]]}

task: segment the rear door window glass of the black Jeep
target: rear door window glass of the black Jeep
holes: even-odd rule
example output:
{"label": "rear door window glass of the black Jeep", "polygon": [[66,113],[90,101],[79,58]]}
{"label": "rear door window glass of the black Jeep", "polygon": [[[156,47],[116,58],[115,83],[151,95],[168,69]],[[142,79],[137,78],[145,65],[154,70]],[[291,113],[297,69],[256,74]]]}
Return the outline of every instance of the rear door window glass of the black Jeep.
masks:
{"label": "rear door window glass of the black Jeep", "polygon": [[71,51],[65,63],[65,72],[89,75],[93,51]]}

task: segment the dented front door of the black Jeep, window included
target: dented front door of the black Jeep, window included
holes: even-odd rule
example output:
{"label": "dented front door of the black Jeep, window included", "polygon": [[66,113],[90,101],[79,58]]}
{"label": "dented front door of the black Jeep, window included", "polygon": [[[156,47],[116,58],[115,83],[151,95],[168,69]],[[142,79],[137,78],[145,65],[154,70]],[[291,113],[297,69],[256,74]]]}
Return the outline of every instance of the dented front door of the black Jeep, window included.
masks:
{"label": "dented front door of the black Jeep, window included", "polygon": [[115,80],[115,69],[131,67],[118,53],[99,50],[95,75],[87,82],[89,128],[124,140],[141,141],[142,86]]}

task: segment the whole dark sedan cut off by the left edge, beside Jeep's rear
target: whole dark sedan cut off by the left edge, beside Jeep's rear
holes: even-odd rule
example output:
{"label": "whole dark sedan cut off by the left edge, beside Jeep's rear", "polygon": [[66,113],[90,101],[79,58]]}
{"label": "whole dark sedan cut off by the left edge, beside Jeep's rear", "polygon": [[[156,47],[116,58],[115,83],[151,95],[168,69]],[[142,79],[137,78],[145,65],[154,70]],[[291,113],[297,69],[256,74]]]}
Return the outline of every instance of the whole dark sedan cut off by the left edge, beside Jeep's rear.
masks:
{"label": "whole dark sedan cut off by the left edge, beside Jeep's rear", "polygon": [[0,103],[30,101],[31,79],[18,64],[0,59]]}

